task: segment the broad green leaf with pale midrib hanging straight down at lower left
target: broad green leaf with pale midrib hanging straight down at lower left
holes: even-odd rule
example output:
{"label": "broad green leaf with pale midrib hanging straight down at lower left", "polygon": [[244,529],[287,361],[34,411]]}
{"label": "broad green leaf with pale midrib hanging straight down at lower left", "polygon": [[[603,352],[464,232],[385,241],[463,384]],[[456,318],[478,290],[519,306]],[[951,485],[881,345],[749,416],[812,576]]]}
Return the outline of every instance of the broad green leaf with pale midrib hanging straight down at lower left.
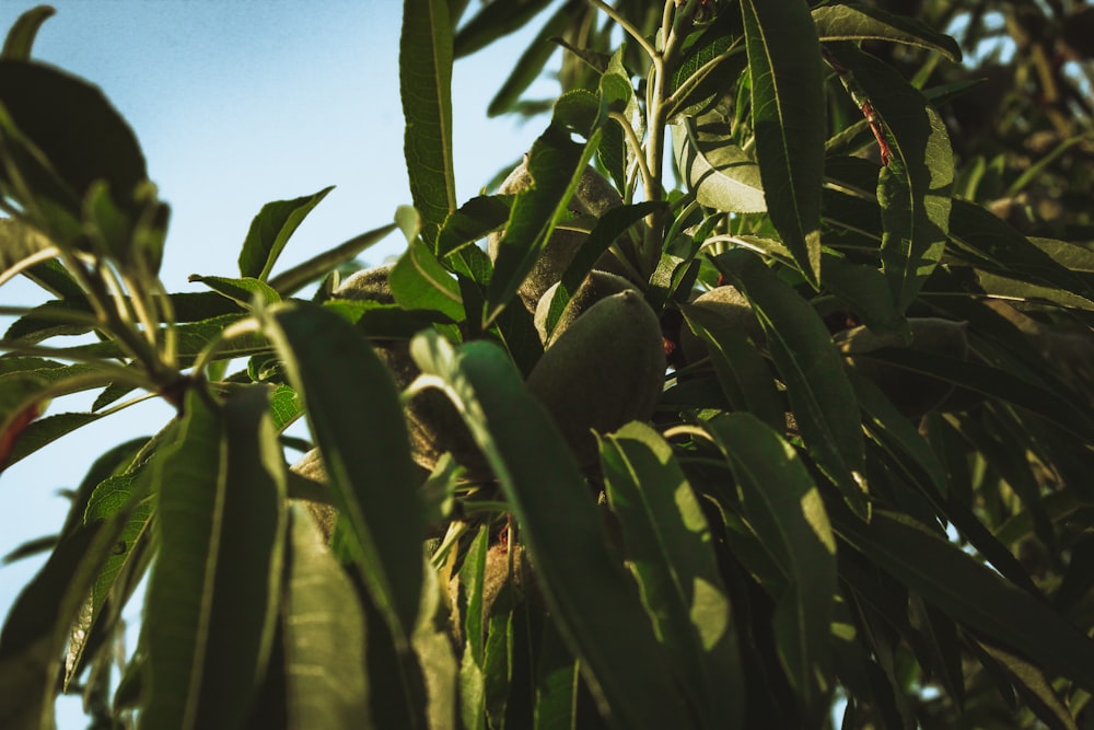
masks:
{"label": "broad green leaf with pale midrib hanging straight down at lower left", "polygon": [[256,385],[223,406],[191,389],[156,464],[141,727],[238,727],[266,671],[280,592],[284,460]]}

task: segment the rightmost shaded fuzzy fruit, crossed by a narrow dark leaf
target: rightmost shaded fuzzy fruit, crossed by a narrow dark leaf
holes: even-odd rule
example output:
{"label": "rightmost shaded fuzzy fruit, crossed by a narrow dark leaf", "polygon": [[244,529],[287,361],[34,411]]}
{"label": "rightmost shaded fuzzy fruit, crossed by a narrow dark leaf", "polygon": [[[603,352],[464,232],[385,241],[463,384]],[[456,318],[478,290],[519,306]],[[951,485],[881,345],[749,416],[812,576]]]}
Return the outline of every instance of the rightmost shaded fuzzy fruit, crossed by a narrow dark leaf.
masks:
{"label": "rightmost shaded fuzzy fruit, crossed by a narrow dark leaf", "polygon": [[[968,358],[967,324],[936,317],[910,317],[911,348],[965,360]],[[896,335],[877,335],[865,326],[853,327],[837,337],[839,349],[851,356],[856,372],[873,381],[905,416],[919,419],[940,407],[953,393],[953,383],[920,375],[885,362],[854,357],[883,347],[901,347]]]}

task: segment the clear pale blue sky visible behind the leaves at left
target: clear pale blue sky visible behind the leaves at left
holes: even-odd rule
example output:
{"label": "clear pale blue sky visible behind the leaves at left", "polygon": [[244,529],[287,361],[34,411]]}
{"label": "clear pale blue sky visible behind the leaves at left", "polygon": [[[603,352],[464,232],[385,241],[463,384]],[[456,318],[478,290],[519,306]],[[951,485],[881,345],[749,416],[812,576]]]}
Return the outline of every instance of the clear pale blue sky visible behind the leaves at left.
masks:
{"label": "clear pale blue sky visible behind the leaves at left", "polygon": [[[0,2],[0,33],[35,2]],[[265,202],[336,188],[311,213],[281,259],[287,267],[383,225],[410,202],[403,160],[396,0],[54,0],[57,14],[34,56],[100,85],[141,141],[150,177],[172,207],[163,279],[200,291],[190,274],[236,273],[238,248]],[[473,3],[477,5],[477,3]],[[474,9],[474,8],[473,8]],[[485,109],[528,35],[457,61],[453,78],[457,193],[466,200],[531,147],[545,120],[487,119]],[[543,81],[542,96],[557,93]],[[370,264],[401,251],[389,236]],[[36,304],[35,287],[11,282],[0,303]],[[49,413],[85,408],[55,402]],[[0,555],[60,526],[95,456],[159,430],[158,402],[75,432],[0,475]],[[101,422],[102,424],[102,422]],[[42,559],[0,567],[0,616]],[[59,727],[84,727],[62,703]]]}

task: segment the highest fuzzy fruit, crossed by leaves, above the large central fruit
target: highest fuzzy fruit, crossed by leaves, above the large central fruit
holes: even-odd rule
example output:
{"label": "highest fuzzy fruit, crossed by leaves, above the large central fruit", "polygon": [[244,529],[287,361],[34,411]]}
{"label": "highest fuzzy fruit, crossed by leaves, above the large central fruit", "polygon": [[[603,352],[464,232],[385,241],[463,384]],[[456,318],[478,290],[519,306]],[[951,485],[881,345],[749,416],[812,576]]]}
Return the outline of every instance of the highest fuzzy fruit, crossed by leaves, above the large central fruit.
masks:
{"label": "highest fuzzy fruit, crossed by leaves, above the large central fruit", "polygon": [[[525,155],[524,162],[510,173],[505,182],[498,188],[498,192],[505,195],[516,195],[528,189],[532,186],[532,175],[528,174],[527,164],[527,155]],[[622,198],[612,187],[612,184],[593,170],[593,167],[585,167],[585,172],[578,183],[578,189],[574,192],[573,197],[570,198],[569,210],[575,216],[600,218],[605,211],[621,205]],[[499,231],[490,234],[488,239],[490,258],[492,260],[497,260],[498,258],[498,251],[503,237],[504,231]],[[573,260],[581,244],[587,237],[589,234],[582,231],[571,231],[561,228],[555,229],[535,266],[533,266],[519,289],[521,301],[524,302],[529,312],[535,311],[536,304],[544,296],[544,292],[551,285],[562,279],[562,275],[566,273],[570,262]],[[605,253],[601,256],[596,262],[595,268],[613,274],[625,274],[625,268],[619,265],[616,257],[610,253]]]}

